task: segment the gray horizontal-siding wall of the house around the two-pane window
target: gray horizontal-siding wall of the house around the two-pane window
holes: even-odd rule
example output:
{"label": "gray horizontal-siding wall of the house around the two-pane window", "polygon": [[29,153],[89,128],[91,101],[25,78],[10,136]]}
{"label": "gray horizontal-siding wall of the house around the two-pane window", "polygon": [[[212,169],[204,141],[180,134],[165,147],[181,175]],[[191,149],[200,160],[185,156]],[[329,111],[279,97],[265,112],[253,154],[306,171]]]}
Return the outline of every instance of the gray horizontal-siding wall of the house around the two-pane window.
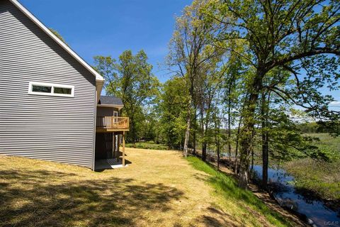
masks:
{"label": "gray horizontal-siding wall of the house around the two-pane window", "polygon": [[[29,82],[74,97],[28,94]],[[96,77],[9,1],[0,0],[0,154],[91,167]]]}

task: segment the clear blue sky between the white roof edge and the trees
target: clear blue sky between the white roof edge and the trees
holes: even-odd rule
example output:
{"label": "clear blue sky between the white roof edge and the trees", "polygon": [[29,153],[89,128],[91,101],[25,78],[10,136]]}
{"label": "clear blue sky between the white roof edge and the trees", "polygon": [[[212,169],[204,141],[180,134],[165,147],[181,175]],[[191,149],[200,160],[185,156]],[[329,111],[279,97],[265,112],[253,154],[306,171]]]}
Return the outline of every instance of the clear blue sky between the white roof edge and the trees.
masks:
{"label": "clear blue sky between the white roof edge and the trees", "polygon": [[164,67],[168,43],[189,0],[20,0],[48,28],[57,30],[81,57],[93,63],[95,55],[114,58],[124,50],[145,50],[154,74],[169,79]]}

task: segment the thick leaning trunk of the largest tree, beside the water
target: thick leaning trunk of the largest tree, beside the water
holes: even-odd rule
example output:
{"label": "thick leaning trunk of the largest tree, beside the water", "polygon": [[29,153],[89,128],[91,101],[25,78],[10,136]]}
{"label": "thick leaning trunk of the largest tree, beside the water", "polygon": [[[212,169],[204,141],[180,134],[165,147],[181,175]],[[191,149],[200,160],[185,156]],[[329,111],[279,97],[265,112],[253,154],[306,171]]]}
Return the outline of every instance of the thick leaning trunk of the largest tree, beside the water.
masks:
{"label": "thick leaning trunk of the largest tree, beside the water", "polygon": [[240,160],[239,160],[239,187],[246,189],[249,180],[249,156],[253,149],[254,138],[254,124],[255,124],[255,110],[257,100],[259,99],[259,92],[262,89],[262,79],[266,72],[258,69],[256,77],[251,86],[251,93],[249,99],[246,101],[244,108],[244,126],[240,137]]}

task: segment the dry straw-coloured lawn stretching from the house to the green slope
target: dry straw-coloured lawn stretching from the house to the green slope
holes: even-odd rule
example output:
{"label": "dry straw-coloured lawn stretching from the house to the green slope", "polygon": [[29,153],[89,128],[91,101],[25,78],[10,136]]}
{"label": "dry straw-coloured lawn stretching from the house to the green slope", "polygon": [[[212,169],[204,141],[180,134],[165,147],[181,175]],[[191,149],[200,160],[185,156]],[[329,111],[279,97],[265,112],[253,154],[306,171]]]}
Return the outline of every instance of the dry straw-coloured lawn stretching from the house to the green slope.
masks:
{"label": "dry straw-coloured lawn stretching from the house to the green slope", "polygon": [[225,209],[180,153],[126,154],[129,167],[103,172],[1,156],[1,226],[273,226],[234,199]]}

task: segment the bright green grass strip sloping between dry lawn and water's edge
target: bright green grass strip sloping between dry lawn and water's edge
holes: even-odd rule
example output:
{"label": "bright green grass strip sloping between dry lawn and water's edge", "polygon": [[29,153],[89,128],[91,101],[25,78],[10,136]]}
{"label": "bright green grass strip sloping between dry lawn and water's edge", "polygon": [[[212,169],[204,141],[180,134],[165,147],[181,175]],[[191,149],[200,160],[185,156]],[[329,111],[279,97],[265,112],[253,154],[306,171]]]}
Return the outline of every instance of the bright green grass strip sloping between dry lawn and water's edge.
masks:
{"label": "bright green grass strip sloping between dry lawn and water's edge", "polygon": [[[232,177],[215,170],[215,167],[203,162],[198,157],[188,157],[188,160],[196,170],[203,171],[208,175],[206,180],[210,187],[214,189],[212,194],[217,197],[223,209],[234,211],[236,216],[245,215],[247,221],[245,226],[256,226],[261,220],[259,216],[265,218],[273,226],[291,226],[287,219],[268,209],[268,206],[252,192],[237,187],[237,182]],[[237,206],[234,206],[235,204]]]}

